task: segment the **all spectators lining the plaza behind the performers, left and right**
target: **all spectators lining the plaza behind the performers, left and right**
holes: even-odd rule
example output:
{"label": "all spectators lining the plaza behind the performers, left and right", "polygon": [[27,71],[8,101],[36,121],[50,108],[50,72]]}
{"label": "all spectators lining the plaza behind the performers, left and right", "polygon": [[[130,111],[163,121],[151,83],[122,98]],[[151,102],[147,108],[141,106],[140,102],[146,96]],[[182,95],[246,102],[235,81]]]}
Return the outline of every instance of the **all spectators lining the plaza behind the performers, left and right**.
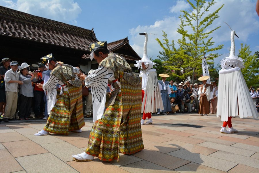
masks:
{"label": "all spectators lining the plaza behind the performers, left and right", "polygon": [[[62,62],[59,62],[62,64]],[[79,74],[84,73],[79,67],[77,68]],[[91,74],[91,70],[88,74]],[[18,64],[17,61],[12,61],[9,58],[1,60],[0,67],[0,115],[1,120],[8,122],[16,117],[16,113],[20,120],[28,120],[31,118],[47,120],[47,93],[42,88],[36,86],[37,83],[44,84],[50,76],[50,70],[45,67],[43,63],[38,64],[38,69],[33,72],[30,71],[30,65],[27,63]],[[212,84],[195,83],[190,81],[174,82],[173,80],[166,81],[169,75],[159,74],[162,80],[159,82],[161,89],[164,110],[157,114],[169,113],[199,113],[207,115],[207,113],[216,114],[217,112],[217,97],[218,86],[217,82]],[[206,84],[206,85],[205,85]],[[84,81],[82,81],[84,86]],[[213,97],[208,97],[209,106],[200,105],[199,95],[205,95],[203,86],[210,89]],[[58,86],[57,86],[58,88]],[[205,89],[206,90],[206,89]],[[253,86],[249,89],[254,105],[259,112],[259,88],[255,90]],[[206,99],[205,99],[206,100]],[[83,96],[83,114],[86,117],[92,116],[92,95],[91,88],[88,88],[88,96]],[[200,110],[199,110],[200,109]],[[31,116],[31,110],[34,112],[34,117]]]}

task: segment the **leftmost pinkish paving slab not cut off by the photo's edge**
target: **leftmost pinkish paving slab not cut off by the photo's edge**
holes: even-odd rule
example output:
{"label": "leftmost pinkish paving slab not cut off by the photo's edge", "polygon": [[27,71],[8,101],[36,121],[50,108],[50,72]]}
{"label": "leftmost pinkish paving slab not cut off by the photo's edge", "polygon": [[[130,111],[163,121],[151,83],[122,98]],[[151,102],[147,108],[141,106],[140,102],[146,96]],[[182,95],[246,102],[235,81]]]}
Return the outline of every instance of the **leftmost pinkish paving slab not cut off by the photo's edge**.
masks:
{"label": "leftmost pinkish paving slab not cut off by the photo's edge", "polygon": [[31,140],[3,142],[2,144],[14,157],[48,153],[47,150]]}

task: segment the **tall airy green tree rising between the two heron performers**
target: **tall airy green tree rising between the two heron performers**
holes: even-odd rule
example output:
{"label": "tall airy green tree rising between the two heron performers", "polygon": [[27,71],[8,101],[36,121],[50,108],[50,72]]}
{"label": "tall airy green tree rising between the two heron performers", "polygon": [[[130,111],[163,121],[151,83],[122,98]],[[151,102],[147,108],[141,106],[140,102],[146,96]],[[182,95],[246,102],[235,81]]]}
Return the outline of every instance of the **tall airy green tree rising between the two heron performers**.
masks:
{"label": "tall airy green tree rising between the two heron performers", "polygon": [[222,45],[214,46],[210,34],[217,30],[219,27],[211,29],[209,26],[212,22],[219,17],[218,12],[224,6],[221,5],[216,11],[209,13],[209,9],[216,3],[215,0],[206,2],[205,0],[195,0],[194,5],[189,0],[188,3],[192,9],[188,11],[181,11],[180,25],[177,32],[182,35],[176,43],[179,48],[175,47],[174,40],[169,42],[167,34],[163,31],[163,43],[157,38],[157,42],[163,48],[159,59],[163,60],[163,65],[166,69],[173,71],[172,76],[180,78],[181,80],[200,77],[202,74],[201,59],[204,53],[210,53],[207,57],[209,65],[214,64],[213,59],[220,56],[220,54],[212,53],[220,50]]}

